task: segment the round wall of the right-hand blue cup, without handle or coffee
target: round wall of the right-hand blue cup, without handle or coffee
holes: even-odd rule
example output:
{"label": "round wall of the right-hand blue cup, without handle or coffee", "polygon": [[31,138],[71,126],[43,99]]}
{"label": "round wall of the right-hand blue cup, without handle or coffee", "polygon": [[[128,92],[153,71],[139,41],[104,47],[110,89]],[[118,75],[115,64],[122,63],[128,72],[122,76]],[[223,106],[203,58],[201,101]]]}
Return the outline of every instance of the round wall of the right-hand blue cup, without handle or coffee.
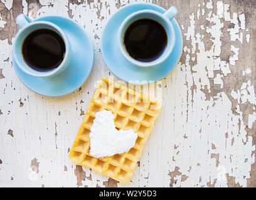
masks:
{"label": "round wall of the right-hand blue cup, without handle or coffee", "polygon": [[[159,52],[159,55],[156,56],[156,59],[152,59],[152,61],[146,62],[132,58],[128,52],[128,49],[126,48],[127,45],[125,46],[125,34],[127,34],[127,30],[129,31],[131,26],[134,26],[136,22],[142,21],[143,19],[156,22],[159,24],[159,26],[162,27],[166,34],[166,44],[163,48],[163,51]],[[159,27],[159,29],[161,29],[161,27]],[[166,16],[164,16],[164,14],[152,10],[137,11],[128,16],[124,22],[122,22],[119,28],[118,38],[120,51],[122,52],[123,56],[130,63],[139,67],[151,67],[163,63],[171,54],[175,42],[175,34],[171,21]]]}

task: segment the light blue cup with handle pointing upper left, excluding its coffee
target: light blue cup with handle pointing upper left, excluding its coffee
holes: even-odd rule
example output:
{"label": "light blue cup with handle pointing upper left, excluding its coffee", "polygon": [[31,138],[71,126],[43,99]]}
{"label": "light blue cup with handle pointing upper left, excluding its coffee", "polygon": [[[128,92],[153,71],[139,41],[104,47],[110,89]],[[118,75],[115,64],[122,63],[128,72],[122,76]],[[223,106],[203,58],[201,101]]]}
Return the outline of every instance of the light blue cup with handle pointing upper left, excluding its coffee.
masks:
{"label": "light blue cup with handle pointing upper left, excluding its coffee", "polygon": [[[16,21],[21,28],[15,37],[13,47],[13,57],[16,61],[18,68],[24,71],[24,73],[31,76],[46,78],[56,76],[68,67],[70,63],[70,44],[68,42],[67,36],[60,29],[60,27],[47,21],[31,21],[31,19],[29,19],[29,17],[25,16],[24,14],[19,14],[16,17]],[[36,71],[35,69],[31,68],[24,60],[24,56],[22,53],[23,42],[31,32],[38,29],[50,29],[52,31],[55,31],[61,36],[61,38],[65,42],[65,56],[63,58],[63,61],[57,68],[50,69],[48,71]]]}

